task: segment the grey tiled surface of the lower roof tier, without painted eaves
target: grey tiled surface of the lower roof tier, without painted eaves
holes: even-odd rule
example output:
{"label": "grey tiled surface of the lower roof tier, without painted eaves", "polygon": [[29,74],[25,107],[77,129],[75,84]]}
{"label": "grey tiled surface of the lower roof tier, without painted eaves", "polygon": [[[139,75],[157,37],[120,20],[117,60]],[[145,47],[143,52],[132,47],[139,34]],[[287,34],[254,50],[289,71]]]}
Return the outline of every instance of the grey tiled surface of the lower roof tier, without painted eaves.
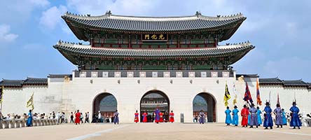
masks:
{"label": "grey tiled surface of the lower roof tier, without painted eaves", "polygon": [[222,57],[242,52],[246,55],[252,50],[251,43],[237,45],[220,45],[217,48],[193,48],[193,49],[120,49],[120,48],[92,48],[90,45],[76,45],[74,43],[57,43],[53,46],[60,52],[78,54],[91,57]]}

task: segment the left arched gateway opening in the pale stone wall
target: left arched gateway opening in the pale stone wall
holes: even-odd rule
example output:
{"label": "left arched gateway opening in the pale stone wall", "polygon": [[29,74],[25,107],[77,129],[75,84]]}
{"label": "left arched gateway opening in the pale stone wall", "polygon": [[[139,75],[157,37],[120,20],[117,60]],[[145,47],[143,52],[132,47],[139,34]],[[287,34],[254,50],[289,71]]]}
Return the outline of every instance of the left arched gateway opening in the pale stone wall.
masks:
{"label": "left arched gateway opening in the pale stone wall", "polygon": [[113,94],[104,92],[95,97],[92,108],[93,116],[97,116],[100,111],[102,117],[111,118],[113,113],[118,109],[118,102]]}

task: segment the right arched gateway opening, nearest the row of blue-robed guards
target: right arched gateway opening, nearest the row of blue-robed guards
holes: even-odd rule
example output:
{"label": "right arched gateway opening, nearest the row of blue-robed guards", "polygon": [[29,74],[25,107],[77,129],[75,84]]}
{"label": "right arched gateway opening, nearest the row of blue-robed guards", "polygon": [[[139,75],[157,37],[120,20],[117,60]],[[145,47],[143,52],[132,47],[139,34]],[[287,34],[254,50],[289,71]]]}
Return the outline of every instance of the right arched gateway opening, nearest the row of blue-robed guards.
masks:
{"label": "right arched gateway opening, nearest the row of blue-robed guards", "polygon": [[216,122],[216,99],[212,94],[201,92],[194,97],[193,117],[198,116],[201,110],[207,115],[208,122]]}

